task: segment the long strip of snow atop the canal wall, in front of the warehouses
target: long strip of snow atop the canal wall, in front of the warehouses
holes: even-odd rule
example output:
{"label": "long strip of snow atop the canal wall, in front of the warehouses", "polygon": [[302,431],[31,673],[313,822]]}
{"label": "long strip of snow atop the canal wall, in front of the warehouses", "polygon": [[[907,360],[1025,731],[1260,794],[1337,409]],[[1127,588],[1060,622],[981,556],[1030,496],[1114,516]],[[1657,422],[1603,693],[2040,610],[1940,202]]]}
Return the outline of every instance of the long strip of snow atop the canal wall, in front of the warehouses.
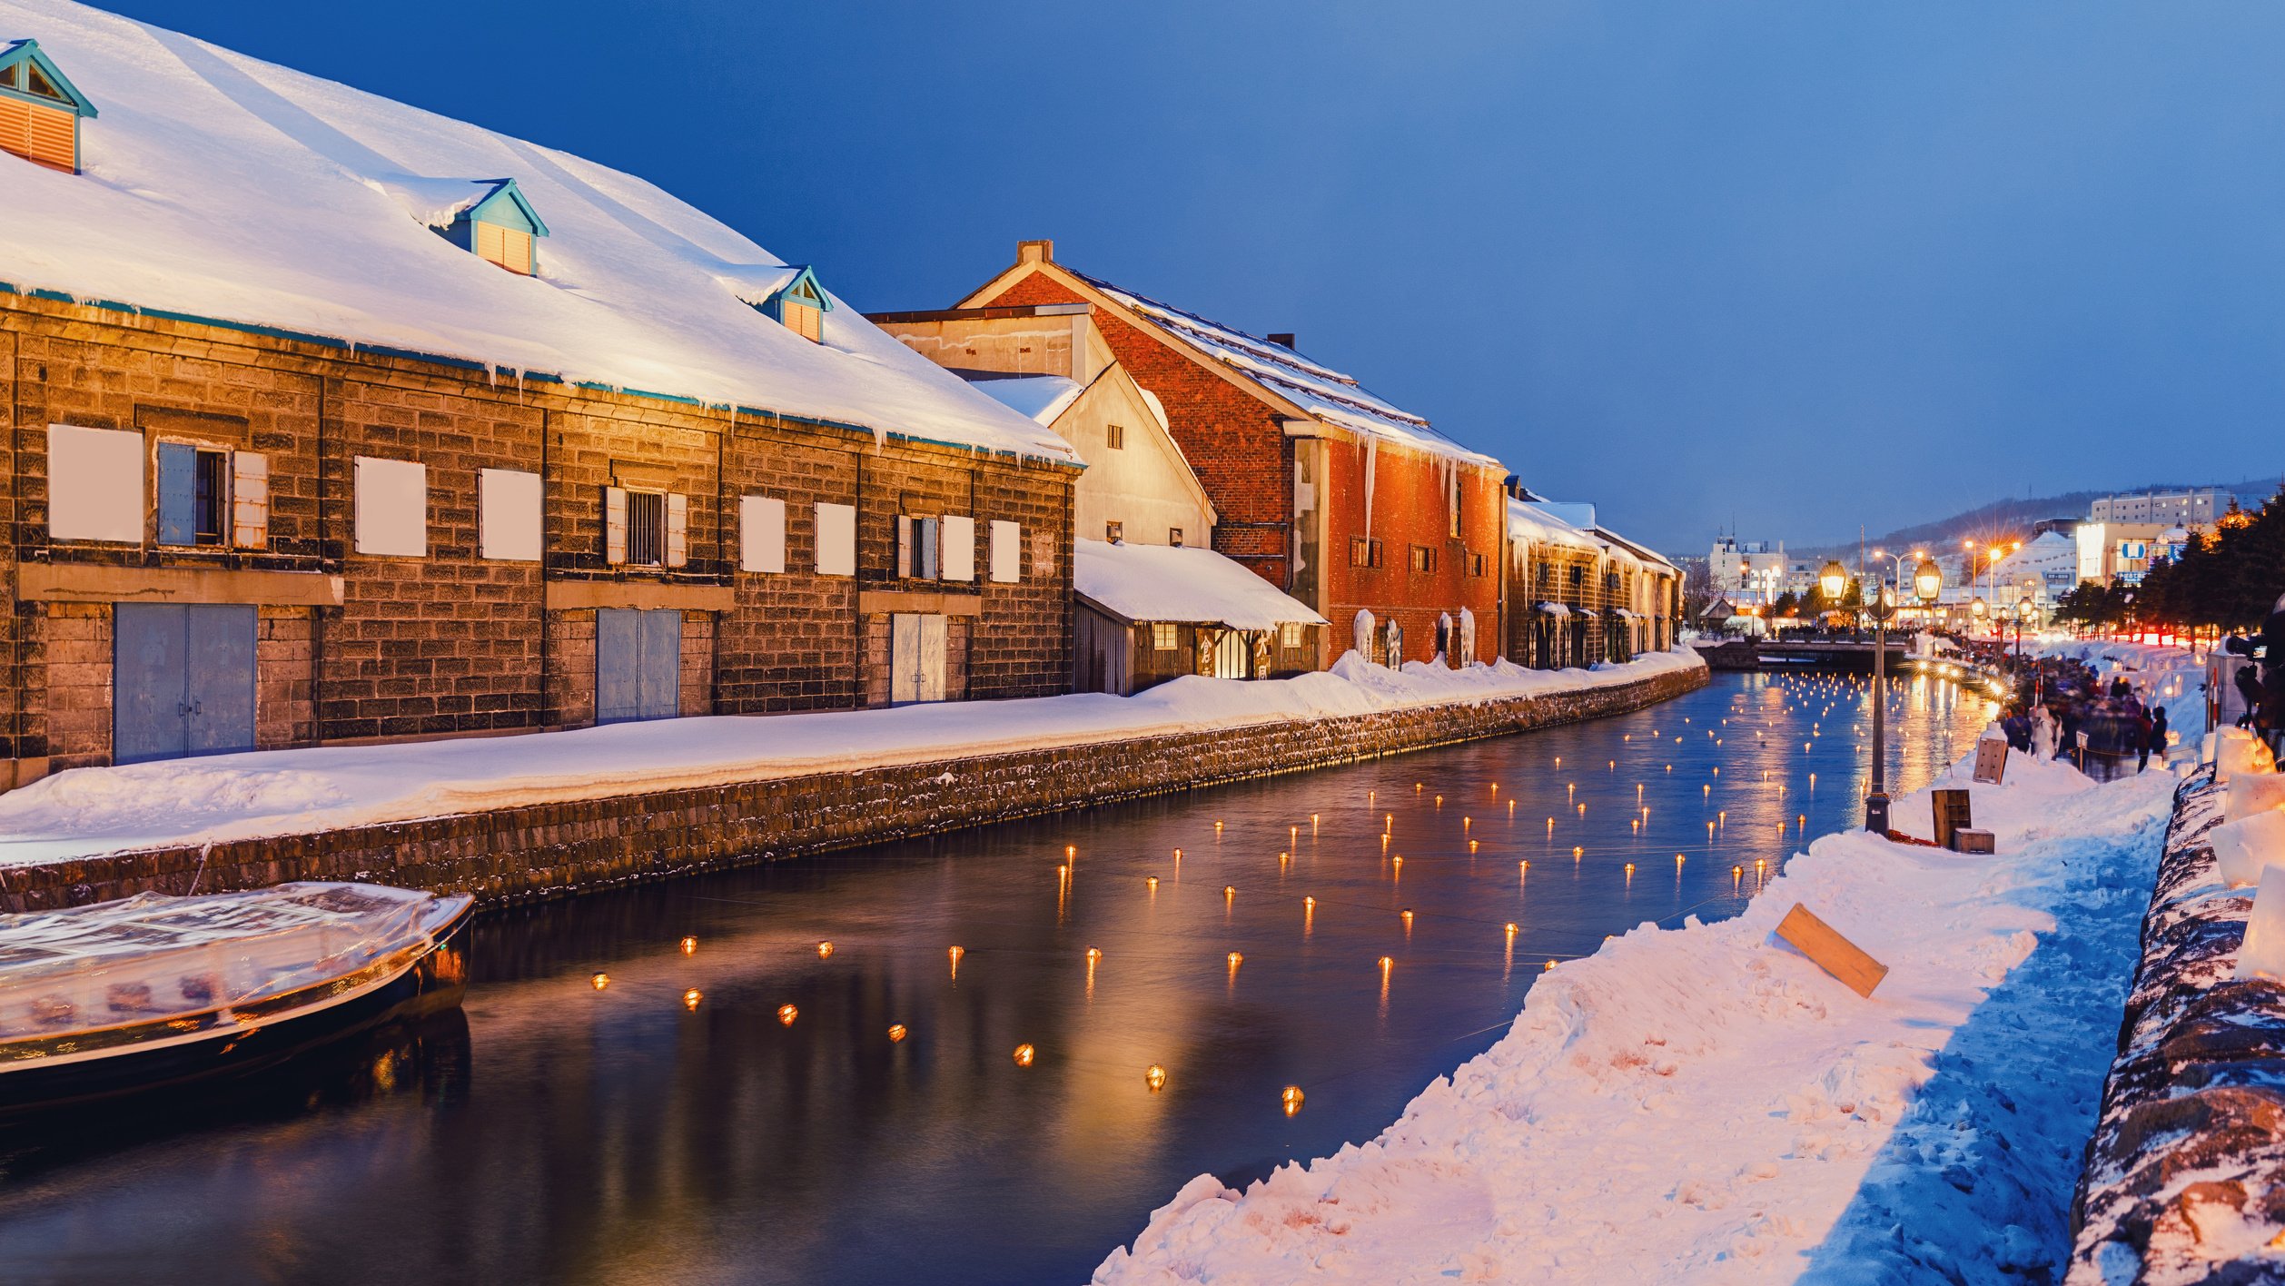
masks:
{"label": "long strip of snow atop the canal wall, in front of the warehouses", "polygon": [[1593,672],[1520,669],[1508,662],[1469,669],[1408,662],[1403,672],[1394,672],[1350,653],[1323,674],[1264,683],[1193,676],[1136,697],[1072,694],[813,715],[717,715],[514,738],[270,749],[78,767],[0,795],[0,868],[631,790],[857,772],[1154,733],[1494,701],[1634,683],[1702,665],[1695,653],[1682,651]]}

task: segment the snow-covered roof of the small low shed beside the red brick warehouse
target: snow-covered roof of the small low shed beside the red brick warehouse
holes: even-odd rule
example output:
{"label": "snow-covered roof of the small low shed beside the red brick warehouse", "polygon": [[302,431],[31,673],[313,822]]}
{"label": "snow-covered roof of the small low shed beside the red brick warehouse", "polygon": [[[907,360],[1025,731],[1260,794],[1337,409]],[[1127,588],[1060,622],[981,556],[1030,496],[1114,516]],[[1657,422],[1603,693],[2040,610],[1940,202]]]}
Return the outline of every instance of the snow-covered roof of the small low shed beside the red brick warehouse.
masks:
{"label": "snow-covered roof of the small low shed beside the red brick warehouse", "polygon": [[1325,624],[1307,603],[1211,548],[1081,539],[1072,589],[1129,621],[1211,621],[1238,630]]}

